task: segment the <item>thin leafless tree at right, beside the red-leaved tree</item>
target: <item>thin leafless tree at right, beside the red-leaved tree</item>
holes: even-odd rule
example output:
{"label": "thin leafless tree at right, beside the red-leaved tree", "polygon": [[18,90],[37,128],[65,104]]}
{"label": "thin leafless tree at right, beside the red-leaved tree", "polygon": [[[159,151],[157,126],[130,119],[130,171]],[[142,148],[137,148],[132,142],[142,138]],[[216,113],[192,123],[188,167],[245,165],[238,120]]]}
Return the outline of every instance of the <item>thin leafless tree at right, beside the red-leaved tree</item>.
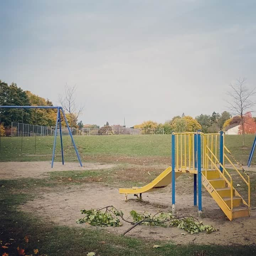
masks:
{"label": "thin leafless tree at right, beside the red-leaved tree", "polygon": [[229,103],[230,110],[240,116],[243,134],[243,146],[245,145],[245,130],[244,130],[244,114],[254,106],[254,101],[251,100],[252,96],[255,95],[255,88],[250,90],[246,86],[246,78],[239,78],[236,83],[230,84],[230,91],[228,95],[232,101]]}

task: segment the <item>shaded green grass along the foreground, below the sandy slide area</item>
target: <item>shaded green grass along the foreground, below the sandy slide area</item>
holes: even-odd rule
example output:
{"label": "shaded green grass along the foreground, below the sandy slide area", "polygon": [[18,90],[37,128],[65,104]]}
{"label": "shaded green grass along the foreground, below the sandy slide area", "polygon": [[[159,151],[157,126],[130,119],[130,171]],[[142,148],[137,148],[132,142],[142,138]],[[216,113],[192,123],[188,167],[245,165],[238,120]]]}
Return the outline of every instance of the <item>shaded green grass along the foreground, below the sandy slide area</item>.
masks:
{"label": "shaded green grass along the foreground, below the sandy slide area", "polygon": [[[17,209],[33,197],[33,190],[24,193],[15,182],[11,184],[5,181],[5,185],[1,187],[0,240],[10,245],[7,249],[0,247],[1,254],[7,252],[16,255],[18,246],[24,248],[27,255],[32,254],[33,249],[38,249],[39,255],[51,256],[81,256],[90,251],[105,256],[238,256],[254,255],[256,251],[255,246],[174,245],[172,242],[154,241],[153,238],[146,240],[114,235],[104,229],[58,226],[35,217],[33,213],[25,214]],[[154,244],[162,247],[154,249]]]}

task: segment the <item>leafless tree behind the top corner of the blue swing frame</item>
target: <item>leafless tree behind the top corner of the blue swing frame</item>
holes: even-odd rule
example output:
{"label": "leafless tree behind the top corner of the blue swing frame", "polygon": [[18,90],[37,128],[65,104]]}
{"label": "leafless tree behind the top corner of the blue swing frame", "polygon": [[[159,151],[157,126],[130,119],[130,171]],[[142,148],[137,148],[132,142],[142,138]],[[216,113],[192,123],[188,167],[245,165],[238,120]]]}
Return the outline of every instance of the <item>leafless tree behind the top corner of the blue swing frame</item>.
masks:
{"label": "leafless tree behind the top corner of the blue swing frame", "polygon": [[63,109],[68,112],[70,116],[70,126],[75,127],[84,106],[77,107],[76,101],[76,85],[69,87],[65,86],[65,94],[59,95],[59,101]]}

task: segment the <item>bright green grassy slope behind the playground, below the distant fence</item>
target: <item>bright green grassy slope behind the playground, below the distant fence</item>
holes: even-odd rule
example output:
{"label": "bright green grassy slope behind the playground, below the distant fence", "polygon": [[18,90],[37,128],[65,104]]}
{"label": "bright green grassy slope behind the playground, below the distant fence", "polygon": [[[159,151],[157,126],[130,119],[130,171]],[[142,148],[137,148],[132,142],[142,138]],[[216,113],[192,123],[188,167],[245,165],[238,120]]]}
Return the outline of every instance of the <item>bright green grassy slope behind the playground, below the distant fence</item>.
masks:
{"label": "bright green grassy slope behind the playground, below the distant fence", "polygon": [[[246,146],[241,147],[241,135],[226,135],[225,144],[234,156],[246,164],[249,158],[254,134],[245,137]],[[64,137],[64,156],[67,161],[76,161],[70,138]],[[84,155],[112,156],[159,156],[171,155],[171,135],[120,135],[120,136],[75,136],[79,153]],[[34,154],[34,138],[23,138],[23,153],[21,154],[21,138],[1,138],[0,161],[36,161],[50,160],[53,148],[53,137],[37,138],[37,153]],[[57,140],[55,152],[56,161],[60,161],[60,142]],[[256,158],[252,161],[256,164]]]}

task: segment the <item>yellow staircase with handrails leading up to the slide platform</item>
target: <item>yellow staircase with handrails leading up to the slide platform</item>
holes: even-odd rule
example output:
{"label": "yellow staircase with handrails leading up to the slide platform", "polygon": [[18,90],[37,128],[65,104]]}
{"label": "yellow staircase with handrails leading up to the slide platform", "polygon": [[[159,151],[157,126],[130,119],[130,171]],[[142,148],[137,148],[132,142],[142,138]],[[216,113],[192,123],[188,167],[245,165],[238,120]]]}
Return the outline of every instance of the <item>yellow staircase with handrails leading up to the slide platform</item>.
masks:
{"label": "yellow staircase with handrails leading up to the slide platform", "polygon": [[[206,190],[213,197],[218,206],[223,210],[225,215],[229,220],[233,220],[235,218],[240,217],[248,217],[250,216],[250,177],[245,172],[243,167],[239,164],[239,162],[234,158],[234,156],[230,153],[228,148],[223,145],[223,164],[218,160],[216,156],[216,152],[214,153],[213,147],[210,149],[208,138],[203,134],[203,167],[202,170],[202,184],[206,188]],[[230,158],[228,157],[228,154]],[[248,198],[247,202],[241,196],[241,194],[234,188],[233,179],[230,175],[230,171],[227,171],[224,167],[224,162],[228,161],[228,163],[233,167],[233,171],[235,175],[239,175],[242,178],[242,181],[248,187]],[[235,164],[234,164],[235,162]],[[235,166],[238,165],[244,176],[247,177],[247,180],[242,175],[241,171]],[[215,168],[215,170],[209,169]],[[222,169],[222,171],[221,171]]]}

